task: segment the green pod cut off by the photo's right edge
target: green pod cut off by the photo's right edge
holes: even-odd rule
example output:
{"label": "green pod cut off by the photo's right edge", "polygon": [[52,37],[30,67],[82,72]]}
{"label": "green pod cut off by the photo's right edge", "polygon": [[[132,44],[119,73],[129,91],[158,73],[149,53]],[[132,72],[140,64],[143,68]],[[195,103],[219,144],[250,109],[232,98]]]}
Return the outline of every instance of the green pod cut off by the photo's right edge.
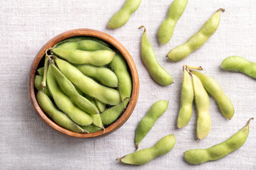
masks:
{"label": "green pod cut off by the photo's right edge", "polygon": [[242,72],[256,79],[256,62],[249,62],[243,57],[230,56],[221,63],[223,69],[232,72]]}

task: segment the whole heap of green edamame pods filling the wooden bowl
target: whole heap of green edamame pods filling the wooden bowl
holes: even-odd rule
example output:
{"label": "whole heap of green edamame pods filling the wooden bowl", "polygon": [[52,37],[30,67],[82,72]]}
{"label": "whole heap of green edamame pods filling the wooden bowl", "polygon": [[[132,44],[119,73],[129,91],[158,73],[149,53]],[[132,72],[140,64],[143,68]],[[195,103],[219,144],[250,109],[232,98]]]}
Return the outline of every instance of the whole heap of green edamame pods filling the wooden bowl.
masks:
{"label": "whole heap of green edamame pods filling the wooden bowl", "polygon": [[40,107],[57,125],[80,133],[104,132],[128,105],[132,81],[116,49],[79,36],[46,50],[35,88]]}

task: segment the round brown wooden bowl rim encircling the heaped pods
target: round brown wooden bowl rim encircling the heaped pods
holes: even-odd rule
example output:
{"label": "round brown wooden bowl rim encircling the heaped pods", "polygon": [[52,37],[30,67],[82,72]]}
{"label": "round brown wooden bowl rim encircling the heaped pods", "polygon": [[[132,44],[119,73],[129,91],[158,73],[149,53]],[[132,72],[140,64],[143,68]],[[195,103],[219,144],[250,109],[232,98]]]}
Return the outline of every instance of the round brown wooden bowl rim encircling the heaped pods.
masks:
{"label": "round brown wooden bowl rim encircling the heaped pods", "polygon": [[[48,116],[45,115],[45,113],[43,113],[42,109],[38,105],[38,101],[35,98],[35,88],[34,88],[35,72],[38,69],[38,64],[40,64],[40,60],[45,55],[45,50],[47,50],[49,47],[52,47],[57,42],[60,42],[70,37],[79,36],[79,35],[86,35],[86,36],[91,36],[95,38],[100,38],[101,40],[105,40],[106,42],[110,43],[111,45],[113,45],[113,47],[116,47],[116,49],[119,52],[121,52],[130,69],[130,75],[133,81],[133,91],[130,97],[130,103],[128,104],[126,111],[123,112],[121,117],[118,118],[118,120],[116,120],[115,123],[108,126],[104,133],[102,132],[102,130],[99,132],[93,132],[93,133],[77,133],[77,132],[72,132],[70,130],[66,130],[65,128],[60,127],[56,123],[52,122],[52,120],[50,120],[50,118],[48,118]],[[103,33],[99,30],[91,30],[91,29],[68,30],[65,33],[61,33],[60,35],[55,36],[55,38],[52,38],[51,40],[49,40],[45,45],[43,45],[41,50],[35,56],[35,59],[33,60],[33,63],[30,68],[28,94],[30,97],[30,101],[33,104],[33,108],[35,108],[35,111],[38,113],[38,115],[43,120],[43,122],[46,125],[48,125],[50,128],[52,128],[52,130],[55,130],[61,135],[65,135],[68,137],[77,137],[77,138],[103,137],[105,135],[110,134],[111,132],[118,130],[118,128],[120,128],[123,125],[123,123],[126,123],[130,115],[133,113],[133,109],[135,108],[135,105],[138,100],[138,94],[139,94],[138,72],[135,67],[135,63],[133,62],[133,58],[130,56],[129,52],[126,50],[125,47],[123,47],[123,45],[121,45],[120,42],[118,42],[118,40],[111,37],[111,35]]]}

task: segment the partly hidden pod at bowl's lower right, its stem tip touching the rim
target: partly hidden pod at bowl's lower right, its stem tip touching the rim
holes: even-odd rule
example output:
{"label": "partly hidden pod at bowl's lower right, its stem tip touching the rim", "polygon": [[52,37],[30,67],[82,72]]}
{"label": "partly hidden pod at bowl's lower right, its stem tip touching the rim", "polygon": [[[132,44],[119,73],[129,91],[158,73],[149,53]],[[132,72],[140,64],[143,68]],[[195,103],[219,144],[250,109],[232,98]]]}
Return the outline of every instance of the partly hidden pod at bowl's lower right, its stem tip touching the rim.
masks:
{"label": "partly hidden pod at bowl's lower right, its stem tip touching the rim", "polygon": [[123,110],[126,108],[126,99],[128,98],[125,98],[122,103],[113,106],[112,108],[108,108],[101,113],[103,125],[110,125],[119,118],[119,116],[123,113]]}

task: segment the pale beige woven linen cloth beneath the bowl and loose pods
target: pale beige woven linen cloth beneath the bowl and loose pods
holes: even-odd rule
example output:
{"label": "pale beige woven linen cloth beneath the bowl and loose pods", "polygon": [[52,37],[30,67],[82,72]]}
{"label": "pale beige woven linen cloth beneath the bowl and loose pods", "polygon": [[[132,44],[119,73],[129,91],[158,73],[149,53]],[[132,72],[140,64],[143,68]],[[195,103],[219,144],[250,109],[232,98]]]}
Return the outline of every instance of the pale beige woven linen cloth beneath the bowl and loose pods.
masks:
{"label": "pale beige woven linen cloth beneath the bowl and loose pods", "polygon": [[[183,159],[187,149],[223,142],[249,118],[256,118],[256,80],[220,67],[230,55],[256,62],[255,1],[189,0],[172,40],[164,46],[157,41],[157,29],[172,0],[142,0],[125,26],[106,28],[123,3],[124,0],[0,0],[0,169],[256,169],[256,120],[251,123],[245,145],[227,157],[198,166]],[[181,62],[169,62],[167,52],[186,42],[220,7],[226,12],[221,13],[219,28],[206,44]],[[150,78],[140,59],[141,25],[148,28],[157,59],[172,74],[175,84],[163,87]],[[58,135],[42,123],[28,100],[27,79],[36,53],[55,35],[74,28],[101,30],[119,40],[133,56],[140,78],[140,96],[130,119],[113,134],[97,140],[72,140]],[[235,106],[233,119],[227,120],[210,98],[212,128],[201,141],[195,137],[195,109],[189,125],[176,128],[183,64],[204,67],[204,73],[221,84]],[[177,138],[174,149],[144,166],[116,162],[116,158],[134,151],[136,125],[152,103],[161,99],[168,100],[169,107],[141,142],[140,149],[151,147],[168,134]]]}

